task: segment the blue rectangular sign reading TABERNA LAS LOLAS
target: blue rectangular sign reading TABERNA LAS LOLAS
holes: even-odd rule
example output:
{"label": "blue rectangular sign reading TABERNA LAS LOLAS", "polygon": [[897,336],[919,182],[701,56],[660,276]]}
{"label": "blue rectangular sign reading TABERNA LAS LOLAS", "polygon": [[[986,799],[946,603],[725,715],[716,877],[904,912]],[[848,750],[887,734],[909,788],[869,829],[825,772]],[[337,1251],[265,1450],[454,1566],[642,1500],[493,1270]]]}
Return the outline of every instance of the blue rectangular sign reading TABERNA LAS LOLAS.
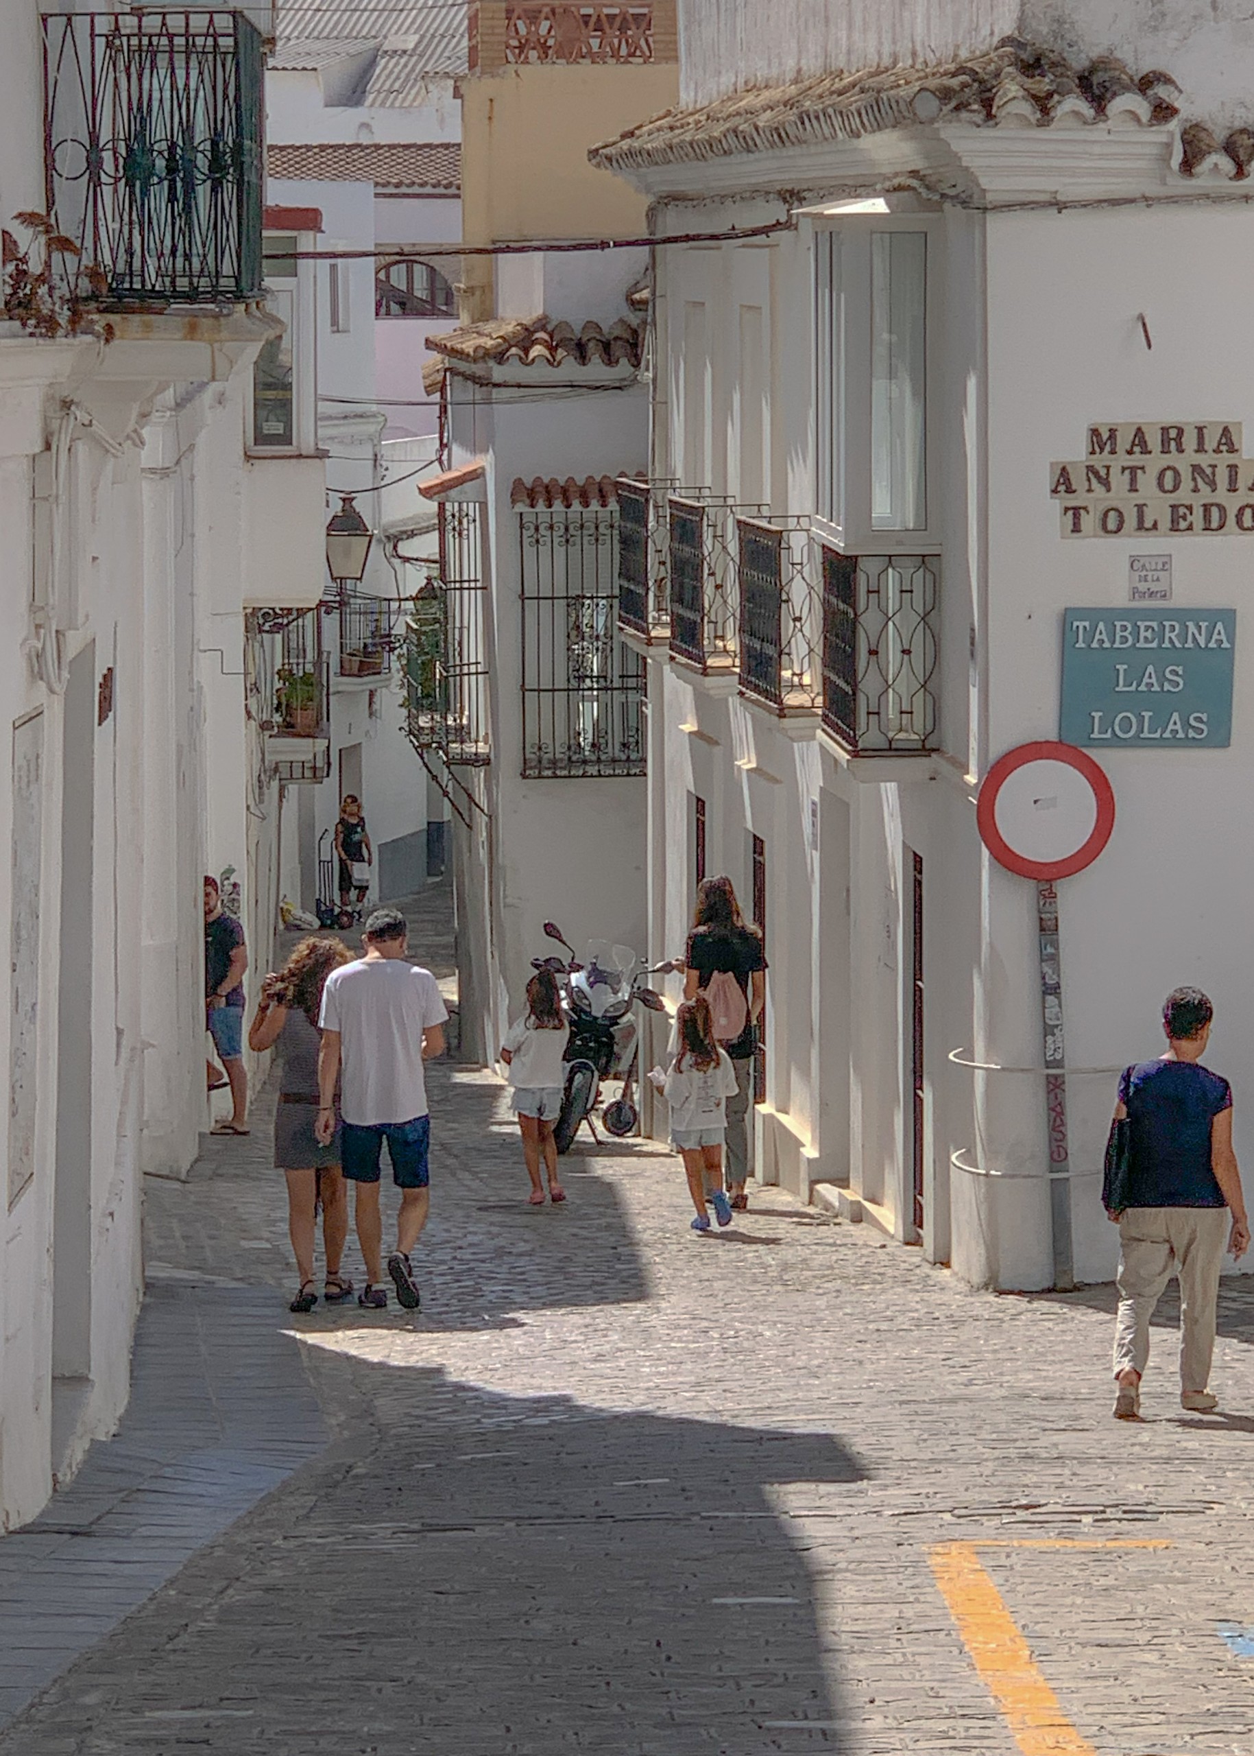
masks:
{"label": "blue rectangular sign reading TABERNA LAS LOLAS", "polygon": [[1226,750],[1235,609],[1068,609],[1059,738],[1091,750]]}

